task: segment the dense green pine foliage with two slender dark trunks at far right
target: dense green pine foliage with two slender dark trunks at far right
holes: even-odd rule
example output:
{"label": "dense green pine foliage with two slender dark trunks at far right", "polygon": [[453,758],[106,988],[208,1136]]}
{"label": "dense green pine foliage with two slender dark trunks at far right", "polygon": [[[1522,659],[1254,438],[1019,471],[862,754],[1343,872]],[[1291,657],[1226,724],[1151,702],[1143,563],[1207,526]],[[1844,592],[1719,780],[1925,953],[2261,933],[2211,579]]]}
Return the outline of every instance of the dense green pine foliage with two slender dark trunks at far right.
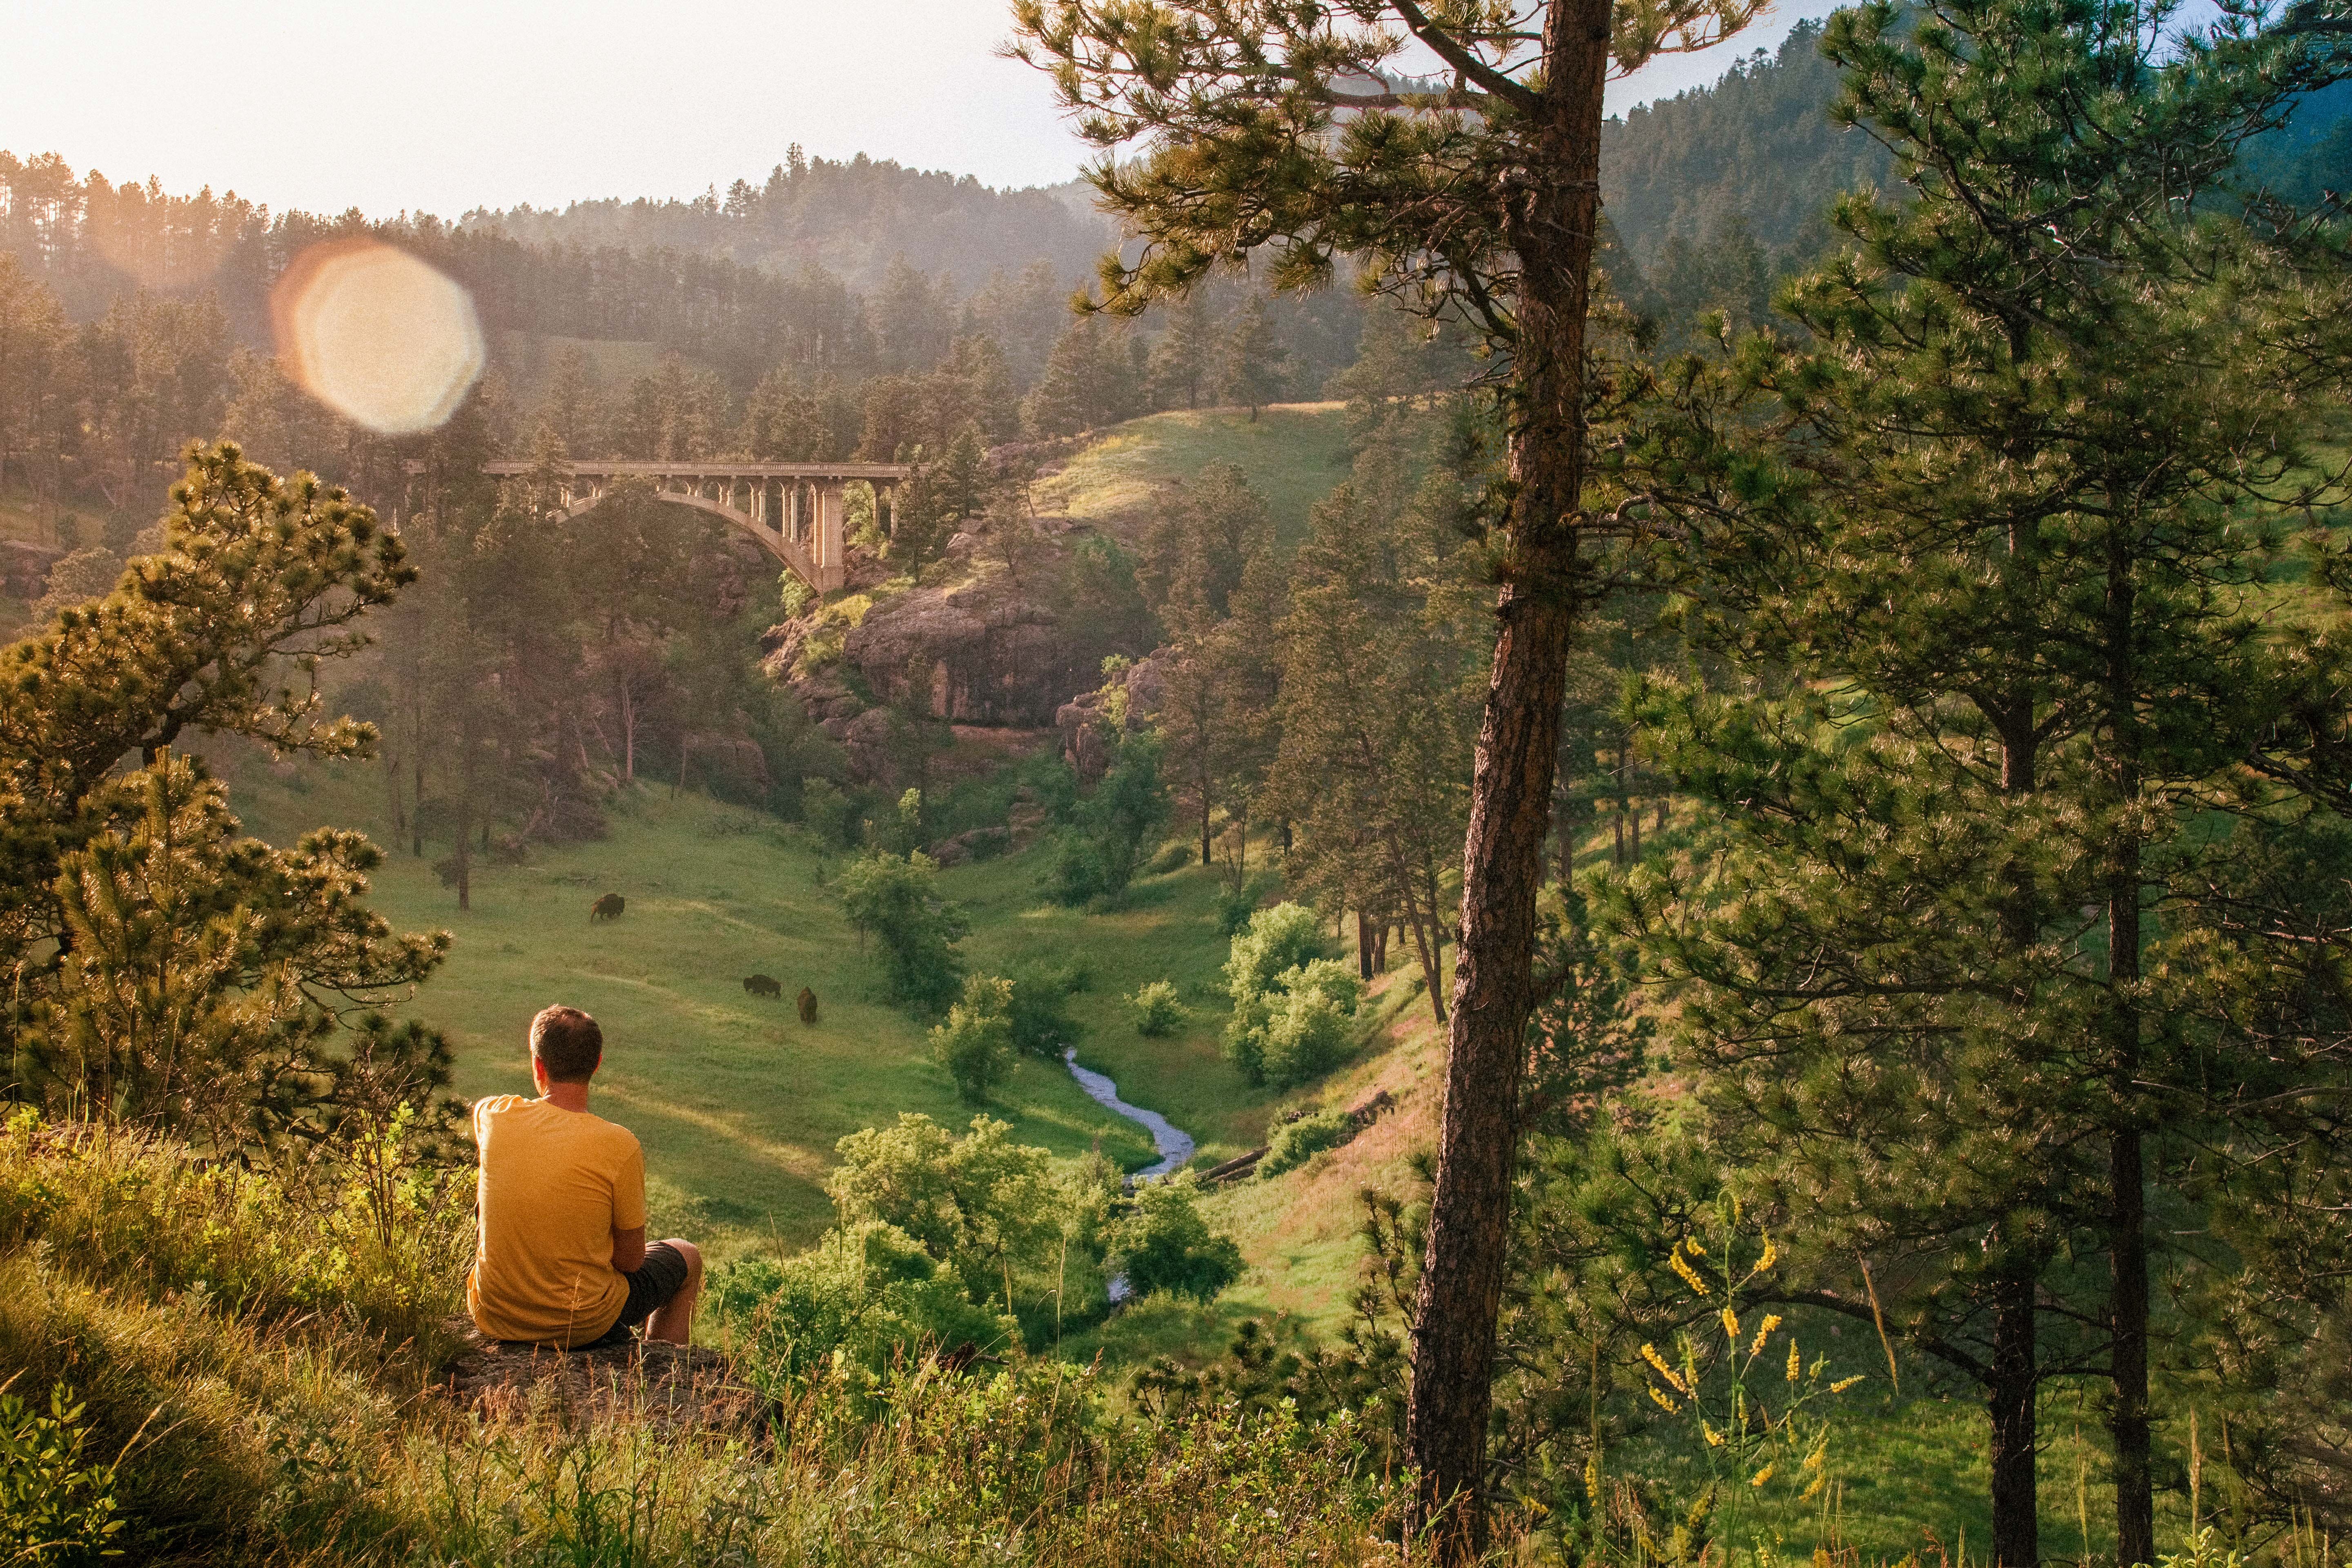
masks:
{"label": "dense green pine foliage with two slender dark trunks at far right", "polygon": [[2336,376],[2258,346],[2336,284],[2190,202],[2340,66],[2237,21],[2173,59],[2159,35],[2154,9],[2006,0],[1830,24],[1839,113],[1915,200],[1849,200],[1856,254],[1783,296],[1811,343],[1731,371],[1778,418],[1712,423],[1733,451],[1700,505],[1740,522],[1700,524],[1686,583],[1788,696],[1656,708],[1722,839],[1632,893],[1722,1126],[1849,1255],[1938,1262],[1898,1314],[1985,1387],[2002,1563],[2039,1554],[2034,1401],[2100,1359],[2079,1324],[2119,1549],[2154,1556],[2147,1201],[2176,1194],[2150,1150],[2204,1133],[2157,1107],[2246,1065],[2176,1056],[2150,1009],[2150,856],[2227,853],[2194,823],[2251,804],[2288,717],[2256,693],[2281,661],[2336,670],[2244,609],[2314,498],[2303,400]]}

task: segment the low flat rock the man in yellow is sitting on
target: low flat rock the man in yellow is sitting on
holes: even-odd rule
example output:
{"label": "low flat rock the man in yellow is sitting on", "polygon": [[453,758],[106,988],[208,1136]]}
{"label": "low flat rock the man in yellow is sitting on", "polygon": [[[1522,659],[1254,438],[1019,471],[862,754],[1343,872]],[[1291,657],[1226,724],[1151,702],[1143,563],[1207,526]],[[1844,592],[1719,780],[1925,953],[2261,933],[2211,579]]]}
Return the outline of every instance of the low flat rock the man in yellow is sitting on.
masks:
{"label": "low flat rock the man in yellow is sitting on", "polygon": [[628,1415],[663,1432],[748,1434],[767,1410],[767,1399],[715,1349],[659,1340],[546,1349],[485,1340],[466,1319],[449,1328],[463,1349],[442,1368],[437,1387],[487,1418]]}

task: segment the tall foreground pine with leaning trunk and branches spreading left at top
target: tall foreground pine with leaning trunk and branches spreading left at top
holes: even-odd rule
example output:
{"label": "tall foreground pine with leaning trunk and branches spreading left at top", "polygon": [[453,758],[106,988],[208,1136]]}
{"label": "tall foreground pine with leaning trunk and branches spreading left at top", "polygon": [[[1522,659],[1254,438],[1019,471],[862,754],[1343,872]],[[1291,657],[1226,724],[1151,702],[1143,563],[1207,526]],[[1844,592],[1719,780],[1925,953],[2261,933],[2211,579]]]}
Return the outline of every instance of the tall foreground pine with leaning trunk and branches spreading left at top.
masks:
{"label": "tall foreground pine with leaning trunk and branches spreading left at top", "polygon": [[[1141,247],[1105,256],[1134,315],[1272,252],[1275,287],[1352,256],[1428,315],[1458,313],[1508,364],[1510,501],[1484,708],[1446,1095],[1414,1302],[1406,1458],[1439,1561],[1484,1544],[1496,1302],[1510,1239],[1517,1091],[1534,1006],[1536,889],[1585,562],[1585,336],[1611,71],[1743,28],[1748,0],[1449,7],[1362,0],[1016,0],[1014,54],[1051,71],[1103,148],[1089,181]],[[1392,92],[1406,49],[1451,73]],[[1124,148],[1124,150],[1122,150]]]}

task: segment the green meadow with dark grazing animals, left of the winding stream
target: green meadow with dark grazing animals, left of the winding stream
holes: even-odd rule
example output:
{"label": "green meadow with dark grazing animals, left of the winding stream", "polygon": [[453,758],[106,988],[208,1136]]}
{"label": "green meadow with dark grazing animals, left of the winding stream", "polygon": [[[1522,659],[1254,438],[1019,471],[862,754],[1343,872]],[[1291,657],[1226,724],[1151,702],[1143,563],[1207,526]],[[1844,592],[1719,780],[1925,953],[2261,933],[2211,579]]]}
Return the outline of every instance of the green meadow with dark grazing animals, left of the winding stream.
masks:
{"label": "green meadow with dark grazing animals, left of the winding stream", "polygon": [[[285,839],[320,820],[367,823],[362,792],[365,776],[238,797],[254,830]],[[797,832],[652,792],[604,842],[487,870],[466,914],[405,853],[376,877],[374,903],[405,929],[456,933],[412,1013],[454,1037],[459,1093],[529,1093],[532,1013],[583,1006],[607,1034],[600,1107],[644,1140],[656,1225],[802,1246],[830,1218],[821,1185],[837,1138],[903,1110],[950,1126],[971,1117],[929,1060],[924,1027],[877,999],[877,964],[816,877]],[[623,893],[628,914],[590,924],[604,891]],[[962,896],[953,882],[950,896]],[[783,980],[786,999],[746,994],[750,973]],[[802,985],[821,1001],[814,1027],[790,1004]],[[1044,1063],[1021,1063],[988,1112],[1056,1154],[1101,1135],[1122,1164],[1152,1157],[1141,1128]]]}

